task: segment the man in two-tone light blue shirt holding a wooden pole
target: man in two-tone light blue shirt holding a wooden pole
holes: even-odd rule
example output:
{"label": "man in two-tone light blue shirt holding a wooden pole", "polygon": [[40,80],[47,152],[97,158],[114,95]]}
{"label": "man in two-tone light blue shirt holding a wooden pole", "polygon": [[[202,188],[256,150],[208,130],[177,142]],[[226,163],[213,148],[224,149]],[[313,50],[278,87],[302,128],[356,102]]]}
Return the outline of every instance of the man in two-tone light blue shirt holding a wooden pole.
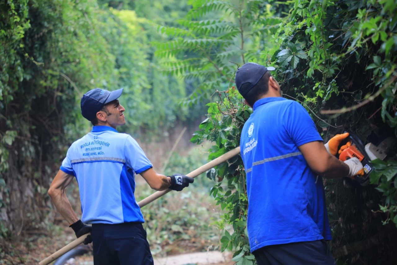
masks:
{"label": "man in two-tone light blue shirt holding a wooden pole", "polygon": [[[77,238],[91,232],[84,244],[93,242],[95,265],[152,265],[134,176],[140,174],[157,191],[181,191],[193,178],[156,173],[139,144],[118,133],[116,127],[125,125],[125,109],[118,101],[122,92],[95,88],[83,95],[81,113],[94,127],[67,150],[48,194]],[[73,177],[79,185],[81,220],[65,193]]]}

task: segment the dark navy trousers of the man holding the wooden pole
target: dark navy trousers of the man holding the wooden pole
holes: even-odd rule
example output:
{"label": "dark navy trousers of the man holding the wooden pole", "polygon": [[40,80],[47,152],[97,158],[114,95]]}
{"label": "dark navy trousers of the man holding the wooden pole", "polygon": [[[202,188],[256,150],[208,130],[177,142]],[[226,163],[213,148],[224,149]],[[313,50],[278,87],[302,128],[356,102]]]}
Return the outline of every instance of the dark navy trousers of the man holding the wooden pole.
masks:
{"label": "dark navy trousers of the man holding the wooden pole", "polygon": [[94,265],[153,265],[141,223],[93,224]]}

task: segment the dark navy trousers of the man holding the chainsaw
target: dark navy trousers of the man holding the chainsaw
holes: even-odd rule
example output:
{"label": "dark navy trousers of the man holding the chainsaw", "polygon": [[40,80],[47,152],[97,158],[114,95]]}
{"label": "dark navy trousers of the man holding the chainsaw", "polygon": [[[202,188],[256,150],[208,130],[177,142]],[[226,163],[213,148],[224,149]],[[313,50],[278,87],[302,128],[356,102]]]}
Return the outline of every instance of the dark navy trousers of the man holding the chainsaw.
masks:
{"label": "dark navy trousers of the man holding the chainsaw", "polygon": [[334,265],[325,240],[261,247],[252,252],[258,265]]}

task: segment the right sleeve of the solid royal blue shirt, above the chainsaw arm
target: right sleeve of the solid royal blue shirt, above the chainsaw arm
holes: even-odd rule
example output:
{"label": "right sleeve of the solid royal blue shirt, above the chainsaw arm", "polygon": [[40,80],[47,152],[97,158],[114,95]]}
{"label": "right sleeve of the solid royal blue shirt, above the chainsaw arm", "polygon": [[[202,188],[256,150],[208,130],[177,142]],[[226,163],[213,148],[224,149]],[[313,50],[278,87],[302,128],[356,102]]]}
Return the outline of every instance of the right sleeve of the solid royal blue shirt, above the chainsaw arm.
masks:
{"label": "right sleeve of the solid royal blue shirt, above the chainsaw arm", "polygon": [[283,121],[289,136],[298,147],[308,142],[323,140],[309,113],[296,101],[287,107]]}

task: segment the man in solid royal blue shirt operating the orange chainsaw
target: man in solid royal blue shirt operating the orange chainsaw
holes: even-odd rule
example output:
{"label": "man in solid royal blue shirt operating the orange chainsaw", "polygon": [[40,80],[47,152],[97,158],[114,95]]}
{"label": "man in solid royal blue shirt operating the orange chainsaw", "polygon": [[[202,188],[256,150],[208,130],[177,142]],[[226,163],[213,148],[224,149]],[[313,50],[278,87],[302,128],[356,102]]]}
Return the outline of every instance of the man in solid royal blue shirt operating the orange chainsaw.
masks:
{"label": "man in solid royal blue shirt operating the orange chainsaw", "polygon": [[331,230],[322,177],[364,173],[357,158],[341,162],[335,157],[349,134],[324,145],[306,109],[281,97],[278,82],[262,65],[244,64],[235,82],[253,109],[240,147],[249,243],[258,265],[334,264],[326,242]]}

